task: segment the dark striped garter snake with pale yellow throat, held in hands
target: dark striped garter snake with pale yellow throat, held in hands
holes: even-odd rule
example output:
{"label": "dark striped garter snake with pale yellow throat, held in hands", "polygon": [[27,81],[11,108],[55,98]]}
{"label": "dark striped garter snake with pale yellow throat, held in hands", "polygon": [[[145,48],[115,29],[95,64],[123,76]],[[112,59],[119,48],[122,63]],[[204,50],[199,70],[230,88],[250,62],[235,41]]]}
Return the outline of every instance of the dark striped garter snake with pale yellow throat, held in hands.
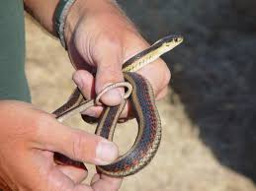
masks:
{"label": "dark striped garter snake with pale yellow throat, held in hands", "polygon": [[[125,80],[128,82],[127,84],[112,85],[104,90],[106,92],[118,86],[125,86],[131,91],[132,87],[131,96],[128,99],[131,102],[138,123],[138,133],[135,143],[127,154],[111,164],[97,166],[97,169],[102,173],[115,177],[128,176],[142,169],[154,157],[161,139],[161,121],[149,82],[134,72],[158,59],[162,54],[173,49],[182,41],[183,37],[180,35],[168,35],[159,39],[149,48],[132,56],[124,63],[123,72]],[[128,96],[129,93],[126,95]],[[98,100],[99,98],[98,96],[96,99]],[[96,102],[93,99],[86,100],[76,88],[67,102],[56,109],[53,114],[56,115],[58,121],[63,121],[90,106],[94,106]],[[127,100],[124,98],[121,105],[105,107],[98,122],[96,135],[113,140],[119,116],[126,102]]]}

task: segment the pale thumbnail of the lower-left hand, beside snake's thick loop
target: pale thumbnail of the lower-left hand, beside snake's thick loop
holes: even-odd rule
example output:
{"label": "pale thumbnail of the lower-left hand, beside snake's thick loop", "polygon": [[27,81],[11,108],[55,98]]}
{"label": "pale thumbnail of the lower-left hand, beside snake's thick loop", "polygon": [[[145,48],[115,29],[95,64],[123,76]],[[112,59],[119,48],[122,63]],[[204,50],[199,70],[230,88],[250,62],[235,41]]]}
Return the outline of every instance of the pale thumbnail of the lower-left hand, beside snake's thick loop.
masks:
{"label": "pale thumbnail of the lower-left hand, beside snake's thick loop", "polygon": [[109,141],[101,141],[96,149],[99,164],[108,164],[118,158],[117,146]]}

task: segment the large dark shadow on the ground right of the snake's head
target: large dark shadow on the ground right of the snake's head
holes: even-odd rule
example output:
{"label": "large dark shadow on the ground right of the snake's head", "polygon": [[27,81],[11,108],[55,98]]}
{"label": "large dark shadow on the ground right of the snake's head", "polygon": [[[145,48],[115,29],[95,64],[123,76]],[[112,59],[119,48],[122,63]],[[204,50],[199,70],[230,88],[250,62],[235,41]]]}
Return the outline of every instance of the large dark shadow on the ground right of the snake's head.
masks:
{"label": "large dark shadow on the ground right of the snake's head", "polygon": [[169,32],[185,36],[164,57],[171,87],[216,159],[256,182],[255,18],[231,0],[120,3],[151,42]]}

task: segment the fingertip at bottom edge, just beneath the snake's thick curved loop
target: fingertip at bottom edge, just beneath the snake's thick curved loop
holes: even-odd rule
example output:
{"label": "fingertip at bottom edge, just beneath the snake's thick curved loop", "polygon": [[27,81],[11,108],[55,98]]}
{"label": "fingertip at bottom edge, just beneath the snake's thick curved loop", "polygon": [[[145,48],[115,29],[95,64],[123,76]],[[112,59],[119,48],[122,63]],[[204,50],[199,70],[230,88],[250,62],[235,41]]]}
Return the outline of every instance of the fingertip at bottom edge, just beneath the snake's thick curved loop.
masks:
{"label": "fingertip at bottom edge, just beneath the snake's thick curved loop", "polygon": [[91,186],[95,191],[118,191],[123,178],[110,177],[104,174],[95,174]]}

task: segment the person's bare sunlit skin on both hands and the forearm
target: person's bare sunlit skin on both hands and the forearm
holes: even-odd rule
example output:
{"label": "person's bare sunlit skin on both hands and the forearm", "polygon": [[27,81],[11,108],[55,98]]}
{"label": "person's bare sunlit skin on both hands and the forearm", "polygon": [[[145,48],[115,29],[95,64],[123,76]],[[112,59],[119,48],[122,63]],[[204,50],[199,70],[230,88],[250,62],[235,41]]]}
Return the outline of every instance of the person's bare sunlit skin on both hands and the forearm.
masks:
{"label": "person's bare sunlit skin on both hands and the forearm", "polygon": [[[57,2],[25,0],[27,10],[52,34]],[[66,20],[65,39],[71,63],[77,69],[73,80],[86,98],[108,84],[123,81],[122,64],[149,46],[111,0],[76,0]],[[97,68],[95,78],[89,72],[91,67]],[[151,83],[157,99],[166,95],[170,71],[161,59],[138,73]],[[122,89],[113,90],[101,100],[115,105],[123,94]],[[87,114],[98,116],[101,109],[94,107]],[[56,165],[53,161],[53,152],[58,152],[79,161],[110,163],[118,157],[115,144],[64,126],[28,103],[0,101],[0,115],[0,186],[4,190],[119,190],[122,179],[96,173],[91,183],[84,185],[85,167]]]}

